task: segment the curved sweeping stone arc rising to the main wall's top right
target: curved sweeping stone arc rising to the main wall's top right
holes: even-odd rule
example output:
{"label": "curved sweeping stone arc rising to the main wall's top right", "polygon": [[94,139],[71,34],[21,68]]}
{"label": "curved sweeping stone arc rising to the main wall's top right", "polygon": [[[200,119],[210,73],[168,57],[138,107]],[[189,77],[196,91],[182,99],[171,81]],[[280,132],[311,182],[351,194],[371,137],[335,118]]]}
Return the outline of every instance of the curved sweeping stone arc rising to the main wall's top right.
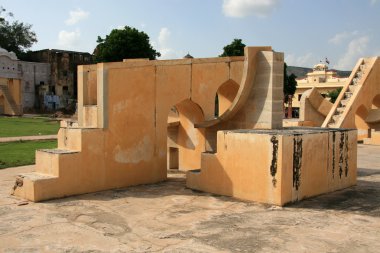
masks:
{"label": "curved sweeping stone arc rising to the main wall's top right", "polygon": [[197,128],[207,128],[215,126],[223,121],[231,119],[246,103],[250,90],[253,86],[256,69],[257,69],[257,53],[261,51],[272,51],[272,47],[245,47],[244,48],[244,67],[243,67],[243,76],[240,83],[238,93],[231,106],[219,117],[212,120],[207,120],[196,124]]}

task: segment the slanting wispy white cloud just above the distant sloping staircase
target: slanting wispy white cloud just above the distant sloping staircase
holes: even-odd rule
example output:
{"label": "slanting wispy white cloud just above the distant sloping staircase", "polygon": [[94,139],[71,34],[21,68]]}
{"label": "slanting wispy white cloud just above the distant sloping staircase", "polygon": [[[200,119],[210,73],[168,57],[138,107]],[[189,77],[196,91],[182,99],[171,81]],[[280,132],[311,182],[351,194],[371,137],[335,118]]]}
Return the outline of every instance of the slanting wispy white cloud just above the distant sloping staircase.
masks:
{"label": "slanting wispy white cloud just above the distant sloping staircase", "polygon": [[347,51],[345,54],[338,60],[338,64],[334,67],[340,70],[350,70],[354,67],[356,61],[363,57],[367,46],[369,43],[368,36],[362,36],[359,38],[354,38],[350,41],[347,46]]}

